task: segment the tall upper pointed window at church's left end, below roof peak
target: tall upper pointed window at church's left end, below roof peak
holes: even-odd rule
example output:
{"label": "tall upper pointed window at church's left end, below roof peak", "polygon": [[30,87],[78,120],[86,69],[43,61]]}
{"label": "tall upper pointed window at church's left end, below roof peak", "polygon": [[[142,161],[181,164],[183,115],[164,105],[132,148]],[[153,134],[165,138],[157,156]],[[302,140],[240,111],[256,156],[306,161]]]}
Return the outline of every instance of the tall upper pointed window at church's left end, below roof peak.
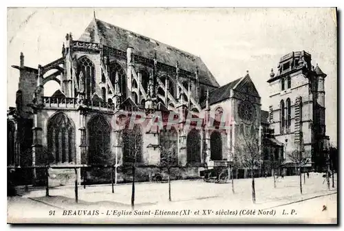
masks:
{"label": "tall upper pointed window at church's left end, below roof peak", "polygon": [[86,98],[91,98],[96,91],[96,76],[94,63],[86,56],[78,60],[78,74],[76,77],[78,78],[79,89],[84,89]]}

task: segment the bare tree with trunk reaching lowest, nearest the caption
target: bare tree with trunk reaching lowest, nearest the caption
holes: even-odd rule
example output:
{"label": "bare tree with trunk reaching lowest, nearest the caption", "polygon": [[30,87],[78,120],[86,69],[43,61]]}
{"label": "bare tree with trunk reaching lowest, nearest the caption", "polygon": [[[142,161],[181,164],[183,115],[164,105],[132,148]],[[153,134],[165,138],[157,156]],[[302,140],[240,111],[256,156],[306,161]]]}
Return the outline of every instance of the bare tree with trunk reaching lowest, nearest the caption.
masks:
{"label": "bare tree with trunk reaching lowest, nearest the caption", "polygon": [[141,162],[142,155],[142,131],[137,124],[133,129],[124,129],[122,131],[123,139],[122,145],[124,147],[123,160],[125,165],[131,166],[132,170],[132,186],[131,186],[131,208],[135,204],[135,172],[138,163]]}

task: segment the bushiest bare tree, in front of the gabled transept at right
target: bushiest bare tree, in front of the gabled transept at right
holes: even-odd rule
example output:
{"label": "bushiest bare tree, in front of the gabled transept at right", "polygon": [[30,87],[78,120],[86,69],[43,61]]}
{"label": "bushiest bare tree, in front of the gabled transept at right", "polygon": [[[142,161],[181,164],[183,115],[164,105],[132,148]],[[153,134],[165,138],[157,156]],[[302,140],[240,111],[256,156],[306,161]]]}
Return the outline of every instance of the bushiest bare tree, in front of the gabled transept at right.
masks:
{"label": "bushiest bare tree, in front of the gabled transept at right", "polygon": [[252,134],[242,134],[239,135],[239,144],[236,146],[239,152],[238,160],[246,168],[250,169],[252,178],[252,201],[256,202],[255,194],[255,167],[259,166],[259,161],[261,159],[259,140],[256,135]]}

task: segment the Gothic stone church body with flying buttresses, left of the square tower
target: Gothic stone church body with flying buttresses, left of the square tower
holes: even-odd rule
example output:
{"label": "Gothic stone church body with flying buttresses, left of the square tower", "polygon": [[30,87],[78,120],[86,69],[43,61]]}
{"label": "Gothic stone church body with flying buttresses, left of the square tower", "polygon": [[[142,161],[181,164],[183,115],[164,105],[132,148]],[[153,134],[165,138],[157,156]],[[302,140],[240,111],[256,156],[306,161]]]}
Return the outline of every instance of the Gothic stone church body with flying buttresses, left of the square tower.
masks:
{"label": "Gothic stone church body with flying buttresses, left of the square tower", "polygon": [[[56,61],[26,67],[21,54],[20,65],[12,67],[19,70],[19,86],[16,107],[8,111],[8,166],[84,166],[83,172],[78,170],[81,181],[102,181],[102,169],[90,166],[160,166],[170,153],[180,178],[197,177],[202,168],[222,161],[233,164],[240,135],[257,137],[259,144],[264,137],[261,98],[248,72],[219,87],[200,57],[96,17],[79,39],[71,33],[65,36]],[[283,74],[269,81],[277,83]],[[44,96],[49,81],[56,81],[60,89]],[[280,121],[278,105],[270,107],[271,122]],[[133,129],[118,129],[118,115],[130,117],[133,111],[147,115],[145,120],[160,112],[162,127],[134,124]],[[178,126],[166,129],[171,113],[177,115]],[[201,126],[186,126],[189,115],[201,119]],[[222,121],[226,126],[219,126]],[[275,133],[282,134],[279,124]],[[269,145],[281,147],[274,137],[269,139]],[[282,152],[277,151],[278,159]],[[236,168],[236,177],[248,176],[244,165]],[[25,177],[42,175],[36,170]]]}

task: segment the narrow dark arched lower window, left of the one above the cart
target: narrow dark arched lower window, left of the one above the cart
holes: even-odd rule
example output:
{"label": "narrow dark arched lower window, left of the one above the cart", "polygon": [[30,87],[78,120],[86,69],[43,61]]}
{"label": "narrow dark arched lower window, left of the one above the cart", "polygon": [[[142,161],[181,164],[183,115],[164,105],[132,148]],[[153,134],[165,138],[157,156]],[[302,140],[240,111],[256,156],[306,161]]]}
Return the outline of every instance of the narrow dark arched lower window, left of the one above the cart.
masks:
{"label": "narrow dark arched lower window, left of the one above the cart", "polygon": [[193,129],[186,138],[187,163],[196,164],[201,162],[201,136],[199,131]]}

